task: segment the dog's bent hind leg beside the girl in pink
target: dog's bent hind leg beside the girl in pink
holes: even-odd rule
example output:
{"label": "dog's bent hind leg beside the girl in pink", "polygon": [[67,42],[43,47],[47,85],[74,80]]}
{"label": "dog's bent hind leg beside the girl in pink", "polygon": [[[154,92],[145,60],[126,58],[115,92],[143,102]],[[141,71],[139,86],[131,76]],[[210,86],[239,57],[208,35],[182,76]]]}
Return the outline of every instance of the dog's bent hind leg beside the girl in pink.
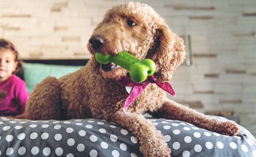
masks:
{"label": "dog's bent hind leg beside the girl in pink", "polygon": [[61,89],[55,77],[47,77],[31,92],[26,108],[25,119],[61,120]]}

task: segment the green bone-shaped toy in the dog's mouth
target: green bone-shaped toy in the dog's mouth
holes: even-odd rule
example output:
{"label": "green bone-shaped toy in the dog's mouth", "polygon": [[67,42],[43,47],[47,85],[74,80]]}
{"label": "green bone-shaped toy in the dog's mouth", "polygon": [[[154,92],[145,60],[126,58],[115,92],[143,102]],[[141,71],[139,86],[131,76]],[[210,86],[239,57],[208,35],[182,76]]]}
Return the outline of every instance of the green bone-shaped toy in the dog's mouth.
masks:
{"label": "green bone-shaped toy in the dog's mouth", "polygon": [[146,78],[155,73],[156,65],[151,59],[139,60],[130,53],[125,51],[117,55],[104,55],[101,53],[95,54],[96,60],[101,64],[113,62],[116,65],[123,67],[130,72],[130,77],[135,82],[143,82]]}

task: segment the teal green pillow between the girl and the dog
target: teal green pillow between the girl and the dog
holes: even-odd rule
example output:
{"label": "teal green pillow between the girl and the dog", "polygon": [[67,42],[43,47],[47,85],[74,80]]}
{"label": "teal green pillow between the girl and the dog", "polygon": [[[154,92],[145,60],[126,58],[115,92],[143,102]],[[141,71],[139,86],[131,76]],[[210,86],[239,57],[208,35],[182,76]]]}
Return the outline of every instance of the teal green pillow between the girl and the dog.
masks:
{"label": "teal green pillow between the girl and the dog", "polygon": [[35,88],[36,84],[47,76],[60,78],[61,76],[79,70],[81,67],[83,66],[47,65],[26,62],[22,65],[23,77],[29,93]]}

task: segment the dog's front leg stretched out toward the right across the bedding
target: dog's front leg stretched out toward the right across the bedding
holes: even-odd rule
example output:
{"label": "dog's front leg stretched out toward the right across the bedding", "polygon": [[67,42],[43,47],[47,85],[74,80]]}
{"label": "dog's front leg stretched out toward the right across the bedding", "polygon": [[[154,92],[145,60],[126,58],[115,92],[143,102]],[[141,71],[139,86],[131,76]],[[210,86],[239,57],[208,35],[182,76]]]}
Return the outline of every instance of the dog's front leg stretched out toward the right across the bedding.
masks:
{"label": "dog's front leg stretched out toward the right across the bedding", "polygon": [[200,128],[228,136],[237,135],[240,130],[236,123],[233,121],[210,118],[168,98],[166,98],[162,108],[159,109],[156,113],[153,113],[153,115],[159,118],[161,117],[186,121]]}

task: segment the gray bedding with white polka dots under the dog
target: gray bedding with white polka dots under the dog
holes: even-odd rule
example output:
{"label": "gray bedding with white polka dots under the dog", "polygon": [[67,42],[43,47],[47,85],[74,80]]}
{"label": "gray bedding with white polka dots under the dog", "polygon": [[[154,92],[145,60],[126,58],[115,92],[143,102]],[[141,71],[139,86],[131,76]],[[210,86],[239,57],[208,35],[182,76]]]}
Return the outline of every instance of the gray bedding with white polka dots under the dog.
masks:
{"label": "gray bedding with white polka dots under the dog", "polygon": [[[224,136],[187,122],[153,119],[174,157],[256,157],[256,139],[245,128]],[[142,157],[139,141],[101,119],[23,120],[0,117],[0,157]]]}

